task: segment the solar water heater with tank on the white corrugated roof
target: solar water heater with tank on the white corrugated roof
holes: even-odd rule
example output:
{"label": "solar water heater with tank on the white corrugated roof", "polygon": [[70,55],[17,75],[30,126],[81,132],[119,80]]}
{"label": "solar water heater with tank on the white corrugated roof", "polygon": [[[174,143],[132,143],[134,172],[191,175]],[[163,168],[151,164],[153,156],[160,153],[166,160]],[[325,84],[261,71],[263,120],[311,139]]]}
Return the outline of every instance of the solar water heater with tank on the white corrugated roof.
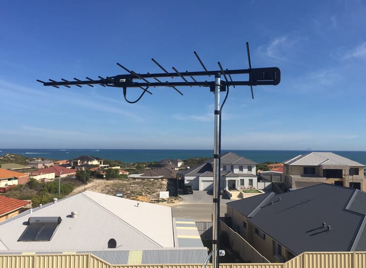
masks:
{"label": "solar water heater with tank on the white corrugated roof", "polygon": [[61,217],[30,217],[18,241],[50,241],[60,223]]}

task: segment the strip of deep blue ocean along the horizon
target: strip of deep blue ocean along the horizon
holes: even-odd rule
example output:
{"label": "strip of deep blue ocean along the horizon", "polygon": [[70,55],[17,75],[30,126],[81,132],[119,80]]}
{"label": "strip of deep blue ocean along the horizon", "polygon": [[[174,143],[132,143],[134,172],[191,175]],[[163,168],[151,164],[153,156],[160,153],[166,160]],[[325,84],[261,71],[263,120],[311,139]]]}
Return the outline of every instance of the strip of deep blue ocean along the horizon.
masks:
{"label": "strip of deep blue ocean along the horizon", "polygon": [[[299,154],[311,151],[285,150],[222,150],[222,153],[237,153],[252,161],[283,162]],[[325,151],[322,151],[325,152]],[[365,151],[326,151],[342,155],[353,161],[366,165]],[[140,150],[140,149],[0,149],[0,155],[16,153],[27,157],[44,157],[48,159],[73,159],[81,155],[91,155],[102,159],[120,160],[125,163],[153,162],[163,159],[188,159],[192,157],[213,157],[213,150]]]}

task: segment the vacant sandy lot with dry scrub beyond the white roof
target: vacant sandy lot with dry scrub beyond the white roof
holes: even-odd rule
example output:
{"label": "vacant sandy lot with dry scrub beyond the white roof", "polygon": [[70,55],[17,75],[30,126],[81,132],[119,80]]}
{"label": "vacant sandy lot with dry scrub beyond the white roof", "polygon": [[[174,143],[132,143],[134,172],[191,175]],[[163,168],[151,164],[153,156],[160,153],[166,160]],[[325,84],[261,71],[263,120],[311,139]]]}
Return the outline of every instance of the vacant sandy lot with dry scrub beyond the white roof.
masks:
{"label": "vacant sandy lot with dry scrub beyond the white roof", "polygon": [[75,188],[70,193],[76,194],[85,190],[95,191],[116,196],[118,191],[122,191],[125,198],[138,198],[140,201],[151,202],[180,202],[180,198],[169,197],[168,199],[159,199],[160,191],[166,191],[167,181],[163,179],[115,179],[101,180],[94,179],[85,187]]}

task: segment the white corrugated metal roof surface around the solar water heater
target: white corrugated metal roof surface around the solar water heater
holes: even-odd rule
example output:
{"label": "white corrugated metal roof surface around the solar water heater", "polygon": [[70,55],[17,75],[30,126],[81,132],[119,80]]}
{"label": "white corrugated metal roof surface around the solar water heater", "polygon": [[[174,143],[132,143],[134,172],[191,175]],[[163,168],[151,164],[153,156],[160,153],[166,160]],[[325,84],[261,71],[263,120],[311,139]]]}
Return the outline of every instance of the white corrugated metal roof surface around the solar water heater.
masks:
{"label": "white corrugated metal roof surface around the solar water heater", "polygon": [[[61,216],[51,241],[17,241],[30,216]],[[0,233],[9,250],[107,249],[110,238],[121,249],[174,247],[170,208],[90,191],[25,211],[0,223]]]}

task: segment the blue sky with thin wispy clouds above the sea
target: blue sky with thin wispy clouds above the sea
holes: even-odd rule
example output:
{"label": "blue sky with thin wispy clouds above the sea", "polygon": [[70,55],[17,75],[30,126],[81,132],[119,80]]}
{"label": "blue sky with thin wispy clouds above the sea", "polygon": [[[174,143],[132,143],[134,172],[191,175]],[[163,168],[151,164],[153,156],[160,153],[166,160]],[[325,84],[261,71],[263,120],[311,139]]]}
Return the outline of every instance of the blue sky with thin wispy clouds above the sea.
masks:
{"label": "blue sky with thin wispy clouds above the sea", "polygon": [[36,79],[126,74],[117,62],[160,73],[152,57],[202,71],[193,51],[209,70],[246,69],[248,41],[252,67],[279,67],[282,79],[254,87],[254,100],[230,89],[223,149],[366,150],[365,25],[361,0],[2,0],[0,148],[212,149],[208,89],[153,88],[129,104],[122,89]]}

